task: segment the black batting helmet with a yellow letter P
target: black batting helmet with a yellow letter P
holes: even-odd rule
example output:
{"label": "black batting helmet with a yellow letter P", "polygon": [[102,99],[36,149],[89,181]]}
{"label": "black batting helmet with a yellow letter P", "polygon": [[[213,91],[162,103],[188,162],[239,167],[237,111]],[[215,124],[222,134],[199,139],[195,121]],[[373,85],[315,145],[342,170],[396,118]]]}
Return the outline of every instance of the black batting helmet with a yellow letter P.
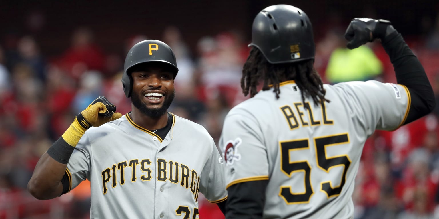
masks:
{"label": "black batting helmet with a yellow letter P", "polygon": [[131,96],[131,91],[133,89],[133,78],[131,77],[133,67],[148,62],[161,62],[169,65],[171,71],[174,73],[174,78],[178,73],[174,52],[166,43],[155,39],[148,39],[139,42],[131,47],[125,58],[122,85],[126,97]]}

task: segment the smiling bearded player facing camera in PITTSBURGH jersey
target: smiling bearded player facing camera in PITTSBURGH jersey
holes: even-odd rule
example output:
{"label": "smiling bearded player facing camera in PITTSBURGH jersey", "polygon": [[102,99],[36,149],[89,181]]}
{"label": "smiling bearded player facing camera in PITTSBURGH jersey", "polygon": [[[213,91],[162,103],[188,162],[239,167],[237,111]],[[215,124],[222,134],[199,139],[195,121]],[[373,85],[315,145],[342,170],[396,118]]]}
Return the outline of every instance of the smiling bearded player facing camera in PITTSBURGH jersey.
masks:
{"label": "smiling bearded player facing camera in PITTSBURGH jersey", "polygon": [[224,164],[212,137],[167,112],[177,72],[165,43],[134,45],[122,77],[132,111],[122,116],[96,99],[40,158],[29,192],[50,199],[90,180],[93,219],[195,219],[199,193],[223,210]]}

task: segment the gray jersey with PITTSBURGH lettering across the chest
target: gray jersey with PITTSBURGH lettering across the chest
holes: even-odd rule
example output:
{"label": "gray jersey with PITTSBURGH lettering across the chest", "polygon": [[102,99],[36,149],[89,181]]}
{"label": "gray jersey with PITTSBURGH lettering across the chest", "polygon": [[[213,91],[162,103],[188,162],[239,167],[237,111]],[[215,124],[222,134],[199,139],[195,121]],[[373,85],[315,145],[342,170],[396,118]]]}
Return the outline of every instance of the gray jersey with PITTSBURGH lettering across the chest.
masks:
{"label": "gray jersey with PITTSBURGH lettering across the chest", "polygon": [[90,180],[92,219],[198,218],[198,193],[227,198],[224,164],[204,127],[173,115],[165,139],[128,114],[80,139],[66,172],[71,189]]}

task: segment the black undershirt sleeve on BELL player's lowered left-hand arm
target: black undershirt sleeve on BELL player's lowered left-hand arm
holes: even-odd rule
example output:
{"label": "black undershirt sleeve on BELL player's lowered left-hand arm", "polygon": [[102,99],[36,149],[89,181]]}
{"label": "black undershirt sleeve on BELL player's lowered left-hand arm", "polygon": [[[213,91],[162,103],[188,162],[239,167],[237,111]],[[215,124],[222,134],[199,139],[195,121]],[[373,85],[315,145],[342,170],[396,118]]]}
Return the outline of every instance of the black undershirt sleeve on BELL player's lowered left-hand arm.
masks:
{"label": "black undershirt sleeve on BELL player's lowered left-hand arm", "polygon": [[262,219],[268,180],[238,183],[227,188],[226,219]]}

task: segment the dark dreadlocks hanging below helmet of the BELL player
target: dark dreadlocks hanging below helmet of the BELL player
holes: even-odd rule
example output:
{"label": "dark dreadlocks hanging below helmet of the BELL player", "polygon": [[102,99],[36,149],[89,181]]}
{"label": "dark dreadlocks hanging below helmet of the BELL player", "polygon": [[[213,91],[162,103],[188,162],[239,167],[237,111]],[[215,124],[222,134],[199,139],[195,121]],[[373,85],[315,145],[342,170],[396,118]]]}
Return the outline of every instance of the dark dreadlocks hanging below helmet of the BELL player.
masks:
{"label": "dark dreadlocks hanging below helmet of the BELL player", "polygon": [[294,80],[302,95],[303,106],[305,98],[311,97],[315,105],[326,101],[326,90],[323,81],[313,67],[314,60],[305,60],[294,64],[270,64],[264,55],[256,47],[252,47],[250,55],[242,68],[241,88],[245,96],[256,95],[257,86],[263,80],[262,90],[266,91],[273,87],[276,98],[279,99],[279,84],[282,81]]}

